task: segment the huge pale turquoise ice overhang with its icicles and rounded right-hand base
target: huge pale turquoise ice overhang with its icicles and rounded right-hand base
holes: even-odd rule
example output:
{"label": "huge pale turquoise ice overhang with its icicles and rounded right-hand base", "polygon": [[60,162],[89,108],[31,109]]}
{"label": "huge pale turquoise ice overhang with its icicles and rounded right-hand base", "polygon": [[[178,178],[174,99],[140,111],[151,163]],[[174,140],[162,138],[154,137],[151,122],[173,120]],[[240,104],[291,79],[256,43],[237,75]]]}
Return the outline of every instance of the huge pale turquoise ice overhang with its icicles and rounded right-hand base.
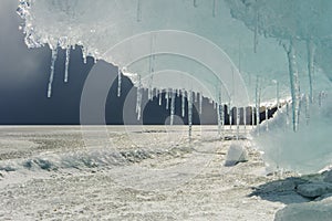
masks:
{"label": "huge pale turquoise ice overhang with its icicles and rounded right-hand base", "polygon": [[[84,61],[93,56],[95,61],[105,60],[118,66],[118,96],[121,75],[133,81],[137,87],[138,118],[143,88],[148,90],[149,98],[153,92],[164,92],[166,107],[173,114],[174,90],[180,91],[181,115],[185,116],[186,95],[189,125],[195,97],[199,95],[200,103],[203,96],[210,98],[217,107],[219,135],[225,124],[225,104],[228,105],[227,114],[229,107],[237,107],[236,116],[229,115],[237,127],[240,118],[249,122],[247,115],[239,116],[238,107],[250,105],[251,108],[242,113],[250,112],[250,122],[257,124],[262,109],[267,116],[269,108],[277,107],[277,117],[257,127],[255,135],[267,158],[277,164],[277,150],[289,152],[295,147],[299,149],[294,155],[280,159],[278,166],[284,162],[294,169],[289,162],[299,162],[297,158],[303,151],[308,156],[303,159],[305,164],[298,164],[298,167],[304,165],[300,168],[302,171],[319,169],[308,166],[311,159],[320,159],[321,166],[331,164],[328,159],[321,160],[332,152],[324,145],[331,143],[325,134],[331,131],[331,124],[325,124],[331,123],[331,114],[326,110],[331,107],[331,99],[326,97],[332,78],[331,1],[19,2],[18,13],[25,22],[27,45],[48,44],[52,50],[48,96],[52,92],[56,50],[66,50],[66,82],[70,49],[82,45]],[[163,98],[159,94],[159,105]],[[201,112],[201,104],[199,106]],[[289,128],[297,133],[290,133]],[[303,136],[310,144],[303,143]]]}

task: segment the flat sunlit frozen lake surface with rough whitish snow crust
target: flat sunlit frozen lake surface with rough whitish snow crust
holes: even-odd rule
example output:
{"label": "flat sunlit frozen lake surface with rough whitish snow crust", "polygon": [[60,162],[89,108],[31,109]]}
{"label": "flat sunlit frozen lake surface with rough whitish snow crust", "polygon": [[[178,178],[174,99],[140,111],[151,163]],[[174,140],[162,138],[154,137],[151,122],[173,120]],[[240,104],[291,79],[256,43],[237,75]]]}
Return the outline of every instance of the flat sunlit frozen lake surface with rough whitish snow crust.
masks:
{"label": "flat sunlit frozen lake surface with rough whitish snow crust", "polygon": [[[194,126],[189,143],[185,126],[2,126],[0,220],[266,221],[308,201],[252,194],[280,176],[266,176],[235,129],[221,140],[216,126]],[[231,144],[247,162],[224,166]]]}

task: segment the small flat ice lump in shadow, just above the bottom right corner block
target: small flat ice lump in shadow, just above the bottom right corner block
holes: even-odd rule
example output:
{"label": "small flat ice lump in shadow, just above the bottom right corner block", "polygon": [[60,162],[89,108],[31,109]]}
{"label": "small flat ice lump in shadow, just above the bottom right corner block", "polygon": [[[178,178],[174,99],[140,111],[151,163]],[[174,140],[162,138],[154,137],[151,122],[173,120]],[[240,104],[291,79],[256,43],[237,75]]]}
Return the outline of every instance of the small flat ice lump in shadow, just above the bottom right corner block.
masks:
{"label": "small flat ice lump in shadow, just above the bottom right corner block", "polygon": [[302,183],[298,186],[297,191],[303,197],[315,198],[332,192],[332,185],[328,182]]}

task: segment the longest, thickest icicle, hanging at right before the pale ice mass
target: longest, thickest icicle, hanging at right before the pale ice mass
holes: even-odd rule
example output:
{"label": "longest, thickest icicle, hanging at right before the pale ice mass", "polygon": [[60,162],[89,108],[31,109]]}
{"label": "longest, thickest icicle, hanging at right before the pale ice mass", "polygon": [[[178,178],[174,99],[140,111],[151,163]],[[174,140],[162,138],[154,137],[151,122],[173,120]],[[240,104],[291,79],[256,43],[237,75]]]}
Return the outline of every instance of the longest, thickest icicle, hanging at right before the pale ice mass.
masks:
{"label": "longest, thickest icicle, hanging at right before the pale ice mass", "polygon": [[297,66],[295,49],[292,41],[290,41],[289,50],[287,50],[288,62],[289,62],[289,75],[291,85],[292,96],[292,117],[293,117],[293,130],[298,130],[299,114],[300,114],[300,82],[299,72]]}

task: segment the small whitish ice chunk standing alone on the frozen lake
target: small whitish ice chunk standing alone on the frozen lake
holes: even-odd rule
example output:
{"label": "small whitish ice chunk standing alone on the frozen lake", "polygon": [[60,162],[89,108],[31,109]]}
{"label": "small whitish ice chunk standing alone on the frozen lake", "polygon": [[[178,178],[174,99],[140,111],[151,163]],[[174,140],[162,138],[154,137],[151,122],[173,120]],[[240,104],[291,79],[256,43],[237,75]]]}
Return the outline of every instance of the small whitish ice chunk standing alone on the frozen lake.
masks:
{"label": "small whitish ice chunk standing alone on the frozen lake", "polygon": [[226,156],[225,166],[231,167],[246,161],[248,161],[247,150],[238,144],[230,145]]}

